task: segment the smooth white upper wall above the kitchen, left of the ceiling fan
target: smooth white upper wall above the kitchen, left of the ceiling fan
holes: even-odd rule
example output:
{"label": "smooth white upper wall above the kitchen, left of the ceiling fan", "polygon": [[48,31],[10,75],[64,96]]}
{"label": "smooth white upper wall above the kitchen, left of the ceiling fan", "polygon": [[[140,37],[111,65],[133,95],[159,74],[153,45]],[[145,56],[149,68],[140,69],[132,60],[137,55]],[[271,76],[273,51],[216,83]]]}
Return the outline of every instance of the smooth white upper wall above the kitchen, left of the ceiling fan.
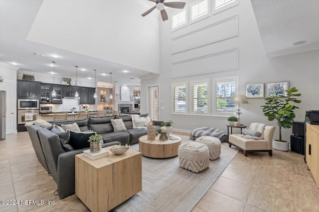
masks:
{"label": "smooth white upper wall above the kitchen, left of the ceiling fan", "polygon": [[27,40],[159,72],[159,18],[137,0],[45,0]]}

